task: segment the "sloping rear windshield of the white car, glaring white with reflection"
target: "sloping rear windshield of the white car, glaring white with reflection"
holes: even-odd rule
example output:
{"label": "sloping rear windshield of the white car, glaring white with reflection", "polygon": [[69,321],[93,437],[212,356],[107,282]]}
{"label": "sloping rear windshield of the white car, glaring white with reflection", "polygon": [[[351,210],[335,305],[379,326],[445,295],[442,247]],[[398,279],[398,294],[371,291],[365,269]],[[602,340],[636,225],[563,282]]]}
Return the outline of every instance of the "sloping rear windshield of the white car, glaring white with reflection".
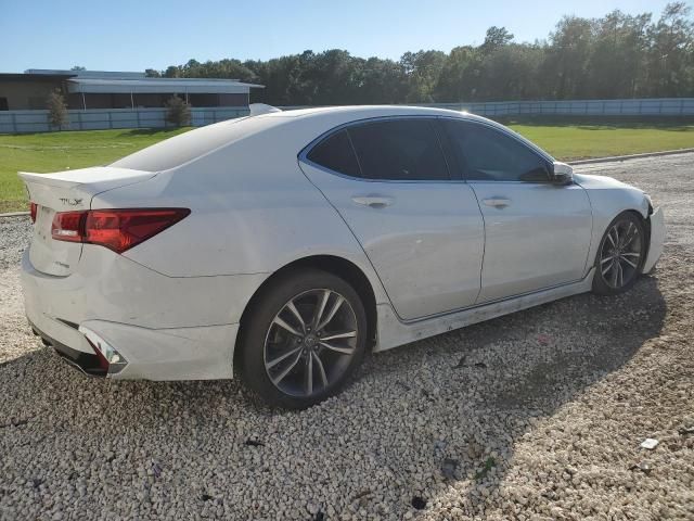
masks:
{"label": "sloping rear windshield of the white car, glaring white with reflection", "polygon": [[127,155],[111,166],[144,171],[168,170],[267,128],[272,122],[260,116],[240,117],[196,128]]}

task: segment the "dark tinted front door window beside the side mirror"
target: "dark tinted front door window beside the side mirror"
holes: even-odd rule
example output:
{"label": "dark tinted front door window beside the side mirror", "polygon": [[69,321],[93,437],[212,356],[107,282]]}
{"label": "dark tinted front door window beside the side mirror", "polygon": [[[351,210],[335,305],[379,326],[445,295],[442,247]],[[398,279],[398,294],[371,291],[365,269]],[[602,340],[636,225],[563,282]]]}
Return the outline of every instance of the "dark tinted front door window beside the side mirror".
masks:
{"label": "dark tinted front door window beside the side mirror", "polygon": [[467,180],[550,180],[544,158],[511,136],[477,123],[442,123]]}

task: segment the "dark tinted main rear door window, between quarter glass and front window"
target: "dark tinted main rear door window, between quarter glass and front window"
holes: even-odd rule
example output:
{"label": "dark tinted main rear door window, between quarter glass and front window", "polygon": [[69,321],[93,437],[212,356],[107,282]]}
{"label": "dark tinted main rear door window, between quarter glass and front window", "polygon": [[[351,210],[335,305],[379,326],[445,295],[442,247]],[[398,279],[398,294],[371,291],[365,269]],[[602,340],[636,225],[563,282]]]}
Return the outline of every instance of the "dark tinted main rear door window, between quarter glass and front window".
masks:
{"label": "dark tinted main rear door window, between quarter glass and front window", "polygon": [[389,119],[349,127],[367,179],[447,180],[448,168],[428,119]]}

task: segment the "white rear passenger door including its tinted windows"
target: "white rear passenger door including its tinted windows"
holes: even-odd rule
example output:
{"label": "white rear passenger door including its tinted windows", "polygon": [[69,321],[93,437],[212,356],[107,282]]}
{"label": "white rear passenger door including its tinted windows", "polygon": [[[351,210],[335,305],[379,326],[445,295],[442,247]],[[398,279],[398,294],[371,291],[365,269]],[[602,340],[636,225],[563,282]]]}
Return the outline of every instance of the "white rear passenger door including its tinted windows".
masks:
{"label": "white rear passenger door including its tinted windows", "polygon": [[434,119],[349,125],[299,164],[361,243],[401,319],[475,303],[481,214],[470,186],[451,181]]}

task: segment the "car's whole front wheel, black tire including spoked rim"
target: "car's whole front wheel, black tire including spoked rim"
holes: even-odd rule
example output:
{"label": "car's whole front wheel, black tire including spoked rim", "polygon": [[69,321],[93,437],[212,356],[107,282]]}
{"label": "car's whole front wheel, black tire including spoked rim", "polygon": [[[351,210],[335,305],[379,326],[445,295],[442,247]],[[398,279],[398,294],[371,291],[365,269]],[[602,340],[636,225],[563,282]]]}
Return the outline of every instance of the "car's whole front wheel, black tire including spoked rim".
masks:
{"label": "car's whole front wheel, black tire including spoked rim", "polygon": [[641,216],[624,212],[603,234],[595,254],[593,293],[617,295],[631,288],[641,275],[646,234]]}

